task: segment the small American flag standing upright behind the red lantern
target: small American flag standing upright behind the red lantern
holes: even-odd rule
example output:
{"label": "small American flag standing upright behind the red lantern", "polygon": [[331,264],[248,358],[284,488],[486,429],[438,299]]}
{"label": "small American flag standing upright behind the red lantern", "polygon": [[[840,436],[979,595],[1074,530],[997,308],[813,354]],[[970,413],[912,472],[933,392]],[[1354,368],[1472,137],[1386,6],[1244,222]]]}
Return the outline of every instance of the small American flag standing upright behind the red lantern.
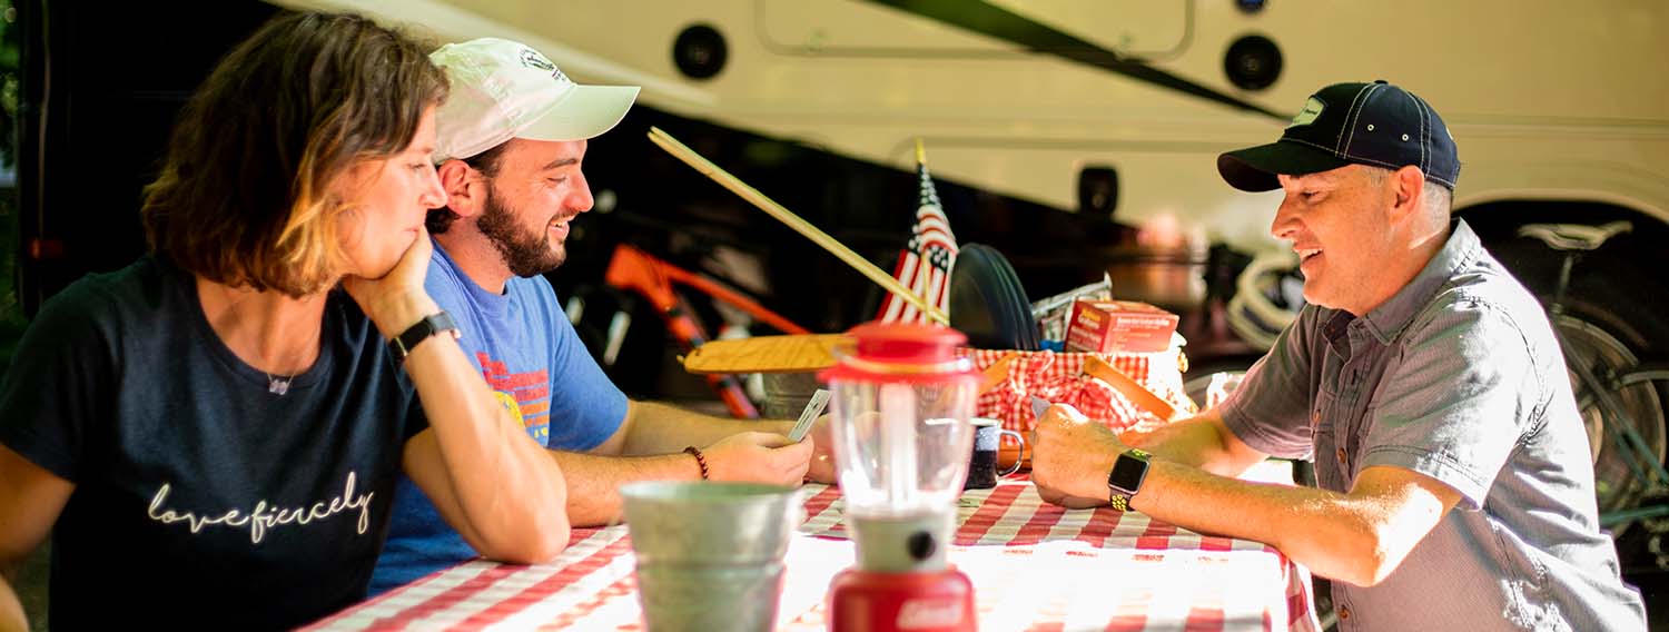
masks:
{"label": "small American flag standing upright behind the red lantern", "polygon": [[[950,220],[940,205],[938,190],[928,177],[928,163],[916,145],[916,177],[921,180],[921,200],[916,207],[916,225],[911,228],[910,243],[898,253],[898,267],[893,277],[928,303],[950,313],[950,268],[956,265],[956,235],[950,232]],[[881,322],[928,322],[926,313],[910,305],[908,300],[888,293],[881,302]]]}

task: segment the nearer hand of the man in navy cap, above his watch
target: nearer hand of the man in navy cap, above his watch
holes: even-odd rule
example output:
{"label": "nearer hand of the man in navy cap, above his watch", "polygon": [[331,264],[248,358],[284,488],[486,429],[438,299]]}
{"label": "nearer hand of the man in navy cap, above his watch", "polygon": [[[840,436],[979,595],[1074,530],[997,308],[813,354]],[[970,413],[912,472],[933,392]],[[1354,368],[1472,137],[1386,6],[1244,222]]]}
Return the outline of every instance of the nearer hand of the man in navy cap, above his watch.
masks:
{"label": "nearer hand of the man in navy cap, above his watch", "polygon": [[1031,440],[1031,484],[1045,502],[1066,509],[1107,504],[1107,472],[1125,452],[1112,430],[1056,404],[1038,419]]}

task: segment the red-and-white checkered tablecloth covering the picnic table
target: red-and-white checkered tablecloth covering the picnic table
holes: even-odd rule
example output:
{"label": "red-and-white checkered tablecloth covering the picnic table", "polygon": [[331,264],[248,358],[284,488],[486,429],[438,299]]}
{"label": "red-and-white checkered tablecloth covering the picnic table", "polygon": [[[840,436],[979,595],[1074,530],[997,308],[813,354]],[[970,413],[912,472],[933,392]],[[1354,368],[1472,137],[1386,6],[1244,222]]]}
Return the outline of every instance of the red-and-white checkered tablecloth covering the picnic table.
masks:
{"label": "red-and-white checkered tablecloth covering the picnic table", "polygon": [[[834,487],[806,485],[778,630],[823,630],[824,592],[855,550]],[[950,560],[975,585],[983,630],[1317,630],[1310,574],[1278,550],[1200,535],[1138,512],[1065,510],[1028,482],[970,490]],[[312,625],[319,630],[643,630],[624,525],[576,529],[541,565],[441,570]]]}

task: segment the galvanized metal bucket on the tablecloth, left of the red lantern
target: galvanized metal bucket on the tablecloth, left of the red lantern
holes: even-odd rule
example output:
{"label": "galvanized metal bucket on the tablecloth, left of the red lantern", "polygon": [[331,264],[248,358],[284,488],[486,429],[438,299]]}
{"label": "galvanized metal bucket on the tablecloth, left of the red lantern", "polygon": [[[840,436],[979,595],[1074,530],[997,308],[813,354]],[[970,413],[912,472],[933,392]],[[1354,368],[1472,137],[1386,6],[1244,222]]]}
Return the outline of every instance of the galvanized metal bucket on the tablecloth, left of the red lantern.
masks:
{"label": "galvanized metal bucket on the tablecloth, left of the red lantern", "polygon": [[803,515],[798,489],[636,482],[621,497],[649,630],[774,627],[783,555]]}

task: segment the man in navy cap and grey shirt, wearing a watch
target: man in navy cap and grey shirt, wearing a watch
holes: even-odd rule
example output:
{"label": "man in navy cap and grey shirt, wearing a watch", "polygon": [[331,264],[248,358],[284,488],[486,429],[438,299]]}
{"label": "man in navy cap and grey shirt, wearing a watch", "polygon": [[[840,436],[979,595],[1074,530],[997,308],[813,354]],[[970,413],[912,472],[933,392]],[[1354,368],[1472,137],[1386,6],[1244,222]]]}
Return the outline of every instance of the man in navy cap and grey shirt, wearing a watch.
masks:
{"label": "man in navy cap and grey shirt, wearing a watch", "polygon": [[[1147,452],[1051,407],[1043,497],[1272,544],[1334,579],[1340,629],[1646,629],[1552,327],[1449,217],[1460,160],[1430,103],[1329,85],[1217,168],[1285,192],[1270,230],[1308,305],[1228,400]],[[1312,459],[1319,489],[1228,479],[1270,455]]]}

